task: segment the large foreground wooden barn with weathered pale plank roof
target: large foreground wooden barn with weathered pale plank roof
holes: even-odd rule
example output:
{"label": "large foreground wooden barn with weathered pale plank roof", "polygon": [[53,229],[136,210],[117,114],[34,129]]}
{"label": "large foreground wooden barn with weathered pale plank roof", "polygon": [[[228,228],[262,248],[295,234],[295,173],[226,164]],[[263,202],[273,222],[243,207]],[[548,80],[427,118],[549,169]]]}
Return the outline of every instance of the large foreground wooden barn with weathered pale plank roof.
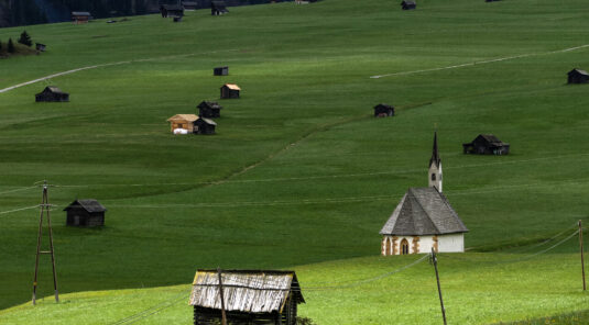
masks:
{"label": "large foreground wooden barn with weathered pale plank roof", "polygon": [[[220,271],[227,324],[295,325],[305,303],[294,271]],[[221,300],[217,270],[198,270],[189,305],[194,324],[220,324]]]}

